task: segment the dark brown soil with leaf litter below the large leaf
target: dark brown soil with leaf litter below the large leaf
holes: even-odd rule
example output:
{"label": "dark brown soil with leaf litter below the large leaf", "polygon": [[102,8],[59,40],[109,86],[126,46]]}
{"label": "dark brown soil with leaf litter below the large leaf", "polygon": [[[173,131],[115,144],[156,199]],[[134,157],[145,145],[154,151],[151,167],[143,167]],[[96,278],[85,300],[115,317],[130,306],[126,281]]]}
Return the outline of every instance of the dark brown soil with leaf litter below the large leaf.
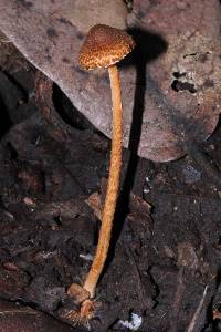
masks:
{"label": "dark brown soil with leaf litter below the large leaf", "polygon": [[[36,107],[35,70],[12,55],[0,71],[0,331],[86,331],[62,313],[96,249],[101,222],[86,200],[104,197],[110,142],[54,86],[57,114],[72,124],[60,139]],[[221,163],[220,126],[200,148],[207,167],[194,155],[155,164],[124,152],[92,331],[127,331],[133,313],[139,331],[221,331],[221,187],[208,175]]]}

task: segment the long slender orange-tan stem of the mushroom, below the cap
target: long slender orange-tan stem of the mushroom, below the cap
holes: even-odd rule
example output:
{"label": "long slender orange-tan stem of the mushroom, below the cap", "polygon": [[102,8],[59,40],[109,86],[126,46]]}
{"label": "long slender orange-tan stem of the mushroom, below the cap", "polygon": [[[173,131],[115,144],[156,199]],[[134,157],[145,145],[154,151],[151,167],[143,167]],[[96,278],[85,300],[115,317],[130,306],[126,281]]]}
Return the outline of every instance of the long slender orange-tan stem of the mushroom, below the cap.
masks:
{"label": "long slender orange-tan stem of the mushroom, below the cap", "polygon": [[96,253],[83,288],[93,298],[107,257],[116,209],[122,169],[123,108],[119,74],[116,65],[108,68],[113,102],[113,137],[109,176]]}

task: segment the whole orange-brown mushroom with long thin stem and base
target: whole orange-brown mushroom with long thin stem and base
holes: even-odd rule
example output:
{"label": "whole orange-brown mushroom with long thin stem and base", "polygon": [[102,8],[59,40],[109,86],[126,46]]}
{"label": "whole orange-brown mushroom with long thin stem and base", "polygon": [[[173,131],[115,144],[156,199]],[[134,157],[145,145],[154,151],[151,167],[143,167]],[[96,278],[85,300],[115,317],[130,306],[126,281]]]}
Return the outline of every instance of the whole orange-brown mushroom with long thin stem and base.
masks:
{"label": "whole orange-brown mushroom with long thin stem and base", "polygon": [[[95,289],[107,257],[116,201],[119,189],[123,149],[123,107],[120,83],[116,63],[124,59],[135,46],[135,42],[125,31],[104,24],[94,25],[80,52],[80,64],[84,70],[108,68],[113,101],[113,137],[109,176],[106,199],[102,215],[102,226],[96,253],[82,292],[78,284],[72,283],[69,293],[81,304],[80,311],[71,311],[65,317],[73,321],[88,320],[94,314]],[[82,300],[83,299],[83,300]]]}

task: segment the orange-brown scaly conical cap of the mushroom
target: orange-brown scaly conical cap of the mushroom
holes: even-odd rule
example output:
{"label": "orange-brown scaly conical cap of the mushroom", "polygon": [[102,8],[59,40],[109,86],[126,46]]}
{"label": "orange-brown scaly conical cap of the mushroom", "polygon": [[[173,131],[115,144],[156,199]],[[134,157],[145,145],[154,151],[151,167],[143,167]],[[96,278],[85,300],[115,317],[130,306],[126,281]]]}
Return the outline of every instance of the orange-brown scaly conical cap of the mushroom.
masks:
{"label": "orange-brown scaly conical cap of the mushroom", "polygon": [[80,51],[84,70],[108,68],[125,58],[135,46],[127,32],[104,24],[94,25]]}

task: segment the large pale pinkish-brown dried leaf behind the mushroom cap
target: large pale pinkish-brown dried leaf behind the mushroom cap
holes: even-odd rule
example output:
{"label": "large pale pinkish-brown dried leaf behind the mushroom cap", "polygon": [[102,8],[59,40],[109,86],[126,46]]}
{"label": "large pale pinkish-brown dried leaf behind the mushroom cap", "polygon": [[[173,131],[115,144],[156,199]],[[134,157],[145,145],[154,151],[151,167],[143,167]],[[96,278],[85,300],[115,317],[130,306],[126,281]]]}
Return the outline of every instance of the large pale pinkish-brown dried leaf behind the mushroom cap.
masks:
{"label": "large pale pinkish-brown dried leaf behind the mushroom cap", "polygon": [[[0,29],[80,112],[112,136],[107,73],[78,68],[85,28],[76,21],[77,3],[0,0]],[[127,22],[137,50],[120,68],[124,145],[154,160],[176,159],[191,143],[207,139],[218,122],[220,2],[135,0],[133,4]]]}

